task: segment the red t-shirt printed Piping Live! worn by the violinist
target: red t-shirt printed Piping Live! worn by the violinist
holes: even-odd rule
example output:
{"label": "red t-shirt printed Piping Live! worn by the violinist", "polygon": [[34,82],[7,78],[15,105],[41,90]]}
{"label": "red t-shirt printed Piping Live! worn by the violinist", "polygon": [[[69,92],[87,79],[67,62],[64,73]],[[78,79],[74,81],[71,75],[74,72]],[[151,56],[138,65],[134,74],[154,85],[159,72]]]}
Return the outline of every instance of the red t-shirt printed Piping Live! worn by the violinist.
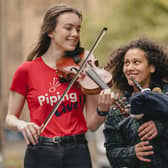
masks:
{"label": "red t-shirt printed Piping Live! worn by the violinist", "polygon": [[[60,83],[56,70],[47,66],[42,58],[38,57],[18,67],[10,90],[26,97],[31,122],[41,126],[68,84],[67,82]],[[85,133],[87,127],[83,107],[84,94],[75,83],[44,129],[42,136],[54,137]]]}

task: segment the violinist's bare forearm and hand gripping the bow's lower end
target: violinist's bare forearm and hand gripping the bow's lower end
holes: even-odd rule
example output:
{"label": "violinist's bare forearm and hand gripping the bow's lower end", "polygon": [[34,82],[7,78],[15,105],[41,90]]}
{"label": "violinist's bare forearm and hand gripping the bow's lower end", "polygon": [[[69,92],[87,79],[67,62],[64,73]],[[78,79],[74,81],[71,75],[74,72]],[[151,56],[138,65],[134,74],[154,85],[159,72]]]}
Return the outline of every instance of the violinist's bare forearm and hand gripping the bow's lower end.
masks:
{"label": "violinist's bare forearm and hand gripping the bow's lower end", "polygon": [[22,132],[27,144],[30,142],[35,144],[38,142],[40,128],[35,123],[19,119],[24,103],[25,97],[23,95],[13,91],[10,92],[6,126],[13,131]]}

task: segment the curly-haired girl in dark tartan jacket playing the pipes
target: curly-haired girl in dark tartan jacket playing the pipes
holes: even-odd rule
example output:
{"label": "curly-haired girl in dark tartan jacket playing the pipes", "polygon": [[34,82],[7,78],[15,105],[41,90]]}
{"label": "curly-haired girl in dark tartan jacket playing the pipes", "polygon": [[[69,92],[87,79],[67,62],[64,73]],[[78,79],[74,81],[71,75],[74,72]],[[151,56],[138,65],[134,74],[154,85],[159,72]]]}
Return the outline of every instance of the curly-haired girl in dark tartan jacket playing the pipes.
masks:
{"label": "curly-haired girl in dark tartan jacket playing the pipes", "polygon": [[[167,120],[133,118],[129,125],[121,124],[130,115],[130,99],[139,92],[132,78],[142,88],[159,87],[164,94],[168,93],[166,48],[147,38],[131,41],[111,53],[106,69],[113,76],[113,91],[105,89],[100,93],[97,112],[107,115],[105,147],[112,167],[166,168],[168,144],[163,139],[167,139]],[[121,96],[125,111],[116,105],[114,93]]]}

